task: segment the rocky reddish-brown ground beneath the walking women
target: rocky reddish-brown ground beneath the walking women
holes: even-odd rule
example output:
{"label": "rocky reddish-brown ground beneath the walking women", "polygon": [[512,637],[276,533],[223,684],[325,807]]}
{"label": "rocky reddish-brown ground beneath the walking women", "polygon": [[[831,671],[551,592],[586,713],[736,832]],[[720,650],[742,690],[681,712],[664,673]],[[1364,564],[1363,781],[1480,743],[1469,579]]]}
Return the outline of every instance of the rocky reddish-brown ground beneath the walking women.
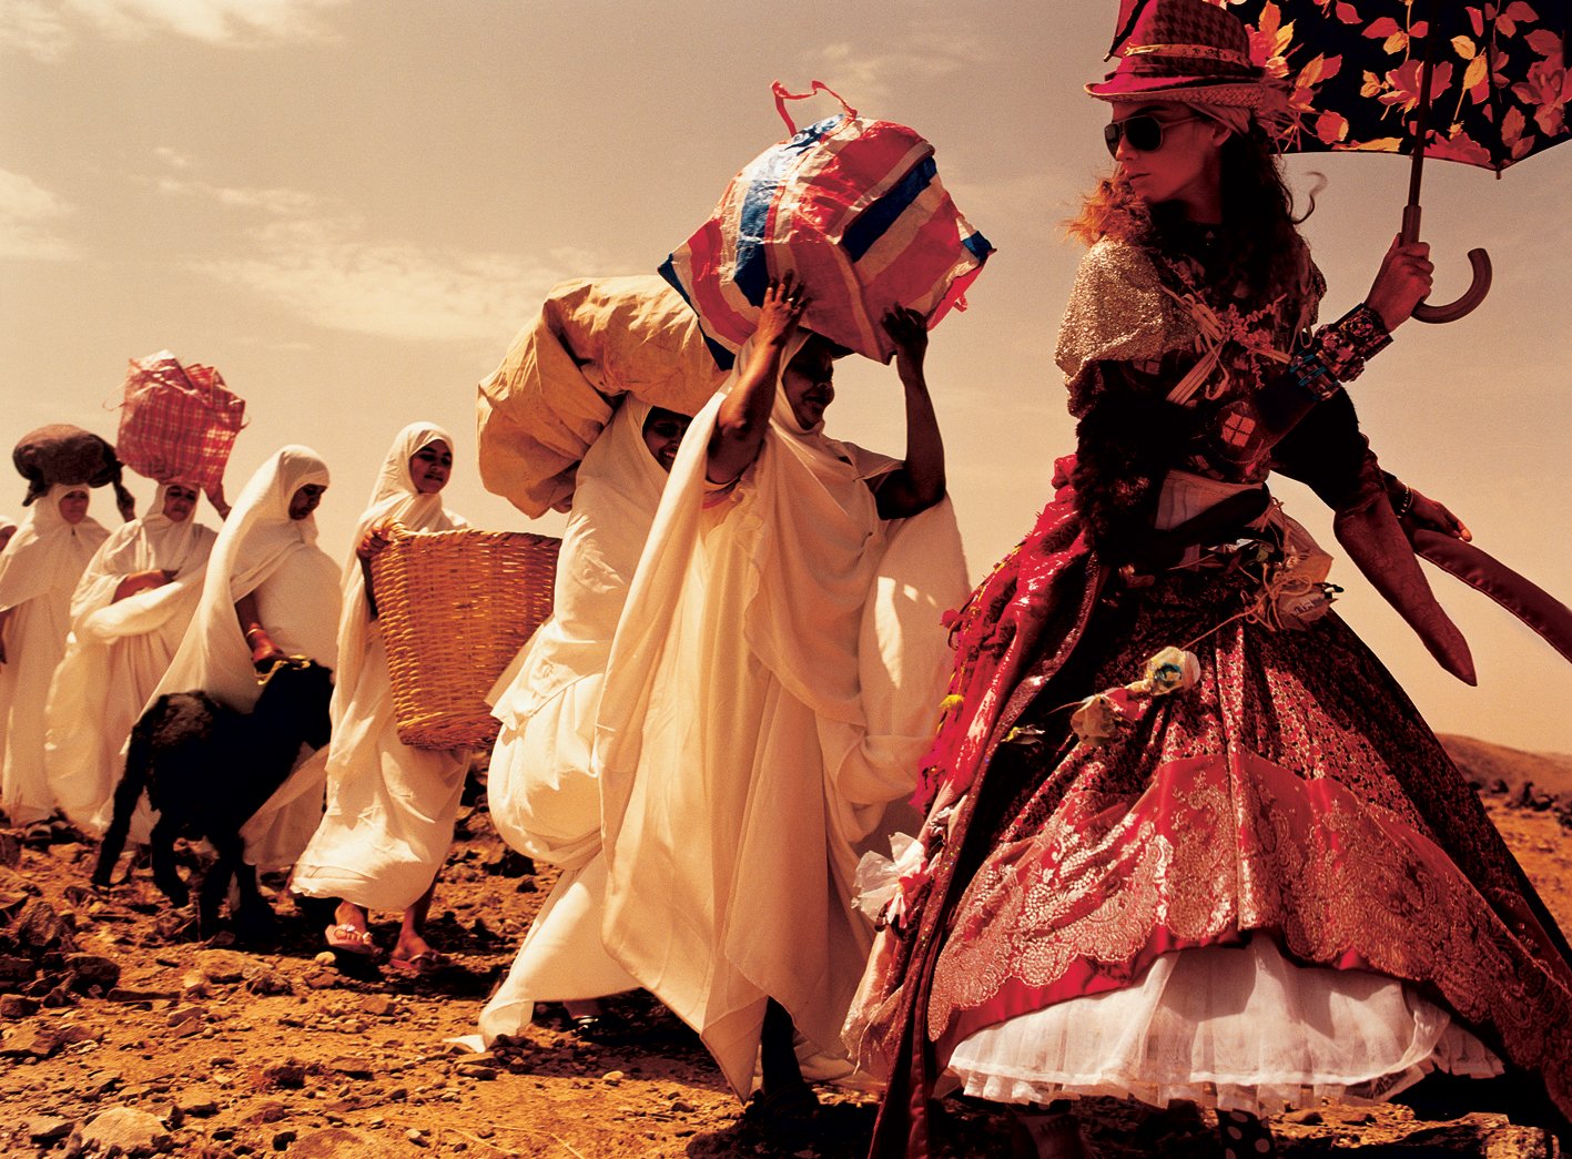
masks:
{"label": "rocky reddish-brown ground beneath the walking women", "polygon": [[[1572,832],[1553,811],[1487,796],[1528,874],[1572,929]],[[0,1151],[5,1154],[860,1156],[874,1101],[825,1090],[821,1121],[783,1135],[723,1088],[698,1039],[648,997],[619,1000],[630,1033],[597,1044],[544,1006],[516,1047],[472,1054],[475,1032],[550,876],[465,810],[439,889],[439,975],[398,977],[322,951],[321,922],[274,893],[281,944],[201,940],[145,868],[99,893],[93,848],[66,832],[0,832]],[[193,854],[185,852],[190,863]],[[393,915],[380,915],[390,918]],[[395,926],[374,928],[390,945]],[[1273,1123],[1284,1156],[1548,1156],[1542,1132],[1462,1096],[1327,1106]],[[1207,1117],[1086,1101],[1110,1157],[1215,1154]],[[1008,1156],[1009,1118],[949,1104],[948,1156]]]}

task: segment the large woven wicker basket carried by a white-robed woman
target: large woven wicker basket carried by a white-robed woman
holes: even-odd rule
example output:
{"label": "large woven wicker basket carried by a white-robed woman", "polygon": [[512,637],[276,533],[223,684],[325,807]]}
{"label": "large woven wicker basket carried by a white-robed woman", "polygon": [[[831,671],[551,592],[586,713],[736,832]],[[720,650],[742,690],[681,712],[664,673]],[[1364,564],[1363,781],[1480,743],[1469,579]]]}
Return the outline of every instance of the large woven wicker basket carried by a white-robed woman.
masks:
{"label": "large woven wicker basket carried by a white-robed woman", "polygon": [[484,697],[552,613],[561,546],[527,532],[417,532],[373,558],[399,741],[479,749],[497,739]]}

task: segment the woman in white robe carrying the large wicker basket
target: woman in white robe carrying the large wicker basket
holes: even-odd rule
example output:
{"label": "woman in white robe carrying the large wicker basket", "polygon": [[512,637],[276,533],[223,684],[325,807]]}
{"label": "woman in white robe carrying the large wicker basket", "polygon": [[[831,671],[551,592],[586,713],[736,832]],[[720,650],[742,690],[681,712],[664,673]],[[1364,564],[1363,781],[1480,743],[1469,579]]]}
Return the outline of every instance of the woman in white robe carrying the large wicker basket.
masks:
{"label": "woman in white robe carrying the large wicker basket", "polygon": [[374,951],[368,911],[402,911],[388,962],[413,973],[442,966],[423,926],[453,844],[468,752],[412,749],[398,739],[369,561],[387,547],[395,522],[409,532],[464,527],[442,506],[451,472],[453,436],[432,423],[410,423],[393,440],[355,527],[343,571],[327,813],[291,884],[303,896],[338,900],[327,929],[335,950]]}

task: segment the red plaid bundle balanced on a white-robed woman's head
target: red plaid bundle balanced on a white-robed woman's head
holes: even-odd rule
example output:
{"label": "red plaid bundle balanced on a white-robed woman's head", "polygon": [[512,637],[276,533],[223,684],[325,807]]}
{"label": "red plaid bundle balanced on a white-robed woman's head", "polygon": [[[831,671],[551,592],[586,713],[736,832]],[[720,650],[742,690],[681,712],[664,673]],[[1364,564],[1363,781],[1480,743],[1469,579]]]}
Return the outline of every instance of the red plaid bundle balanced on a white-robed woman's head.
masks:
{"label": "red plaid bundle balanced on a white-robed woman's head", "polygon": [[201,363],[182,365],[168,351],[132,359],[115,447],[121,462],[159,483],[179,480],[203,491],[223,481],[234,436],[245,425],[245,399]]}

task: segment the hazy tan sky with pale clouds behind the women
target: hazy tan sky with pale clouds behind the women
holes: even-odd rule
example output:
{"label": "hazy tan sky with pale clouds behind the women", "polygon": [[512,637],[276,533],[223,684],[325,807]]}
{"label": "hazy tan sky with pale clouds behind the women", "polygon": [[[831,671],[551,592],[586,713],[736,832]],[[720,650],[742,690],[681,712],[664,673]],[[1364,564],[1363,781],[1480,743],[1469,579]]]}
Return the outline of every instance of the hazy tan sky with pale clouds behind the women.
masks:
{"label": "hazy tan sky with pale clouds behind the women", "polygon": [[[654,270],[729,178],[784,135],[770,82],[824,80],[915,127],[997,247],[927,371],[975,579],[1031,525],[1074,448],[1060,318],[1082,247],[1061,222],[1110,160],[1100,79],[1111,0],[764,6],[604,0],[0,0],[0,445],[68,421],[113,439],[126,362],[171,349],[220,370],[250,425],[228,492],[303,442],[333,486],[322,546],[349,533],[396,431],[457,439],[453,510],[555,533],[479,486],[476,384],[560,280]],[[803,102],[799,123],[838,109]],[[1396,233],[1407,162],[1291,157],[1327,178],[1303,230],[1357,304]],[[1388,470],[1475,541],[1572,599],[1572,146],[1497,179],[1426,167],[1438,300],[1486,247],[1495,288],[1449,326],[1409,322],[1350,393]],[[894,371],[843,362],[828,431],[899,453]],[[143,499],[152,484],[134,481]],[[0,513],[19,517],[24,484]],[[1319,502],[1275,484],[1333,546]],[[113,524],[107,492],[94,514]],[[211,511],[208,519],[214,521]],[[1431,725],[1572,753],[1572,670],[1456,580],[1468,637],[1445,675],[1347,561],[1338,610]]]}

